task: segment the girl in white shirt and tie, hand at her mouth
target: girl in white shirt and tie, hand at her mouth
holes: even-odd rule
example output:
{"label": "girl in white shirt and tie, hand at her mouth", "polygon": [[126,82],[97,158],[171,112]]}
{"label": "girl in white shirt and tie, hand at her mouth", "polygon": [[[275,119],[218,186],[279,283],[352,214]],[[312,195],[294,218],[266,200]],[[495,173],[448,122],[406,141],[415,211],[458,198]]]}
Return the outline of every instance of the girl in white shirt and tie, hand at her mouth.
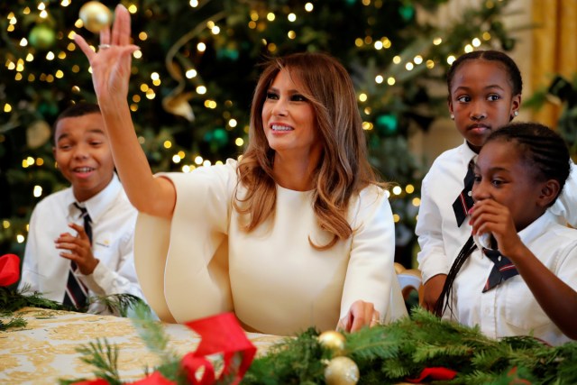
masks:
{"label": "girl in white shirt and tie, hand at her mouth", "polygon": [[[563,139],[541,124],[491,133],[475,164],[472,237],[453,262],[438,315],[479,325],[495,338],[577,338],[577,231],[547,211],[570,170]],[[495,280],[492,270],[500,270]]]}

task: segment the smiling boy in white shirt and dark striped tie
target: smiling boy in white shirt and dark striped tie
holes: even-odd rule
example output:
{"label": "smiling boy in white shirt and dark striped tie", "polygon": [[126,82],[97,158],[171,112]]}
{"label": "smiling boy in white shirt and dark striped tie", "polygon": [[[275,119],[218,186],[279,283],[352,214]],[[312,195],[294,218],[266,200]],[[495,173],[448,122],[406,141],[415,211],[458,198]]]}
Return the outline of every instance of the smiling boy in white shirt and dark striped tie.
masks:
{"label": "smiling boy in white shirt and dark striped tie", "polygon": [[143,297],[133,262],[137,212],[114,172],[104,124],[91,104],[69,107],[54,124],[54,157],[71,186],[34,207],[19,283],[79,309],[96,295]]}

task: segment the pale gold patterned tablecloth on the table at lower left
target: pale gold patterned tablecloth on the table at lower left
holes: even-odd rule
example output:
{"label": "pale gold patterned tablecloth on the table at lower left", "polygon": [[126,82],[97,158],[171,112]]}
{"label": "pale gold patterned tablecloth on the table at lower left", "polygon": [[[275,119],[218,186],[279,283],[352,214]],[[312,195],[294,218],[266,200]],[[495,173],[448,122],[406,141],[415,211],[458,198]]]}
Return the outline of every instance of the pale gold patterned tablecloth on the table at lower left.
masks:
{"label": "pale gold patterned tablecloth on the table at lower left", "polygon": [[[145,367],[150,369],[160,363],[128,318],[32,307],[23,308],[18,314],[28,325],[0,332],[0,384],[56,384],[59,379],[93,379],[94,368],[80,361],[81,354],[76,349],[103,337],[119,347],[118,369],[124,381],[142,379]],[[166,324],[164,328],[169,335],[169,349],[181,356],[196,350],[199,336],[187,326]],[[257,347],[257,354],[279,342],[275,335],[247,333],[247,336]]]}

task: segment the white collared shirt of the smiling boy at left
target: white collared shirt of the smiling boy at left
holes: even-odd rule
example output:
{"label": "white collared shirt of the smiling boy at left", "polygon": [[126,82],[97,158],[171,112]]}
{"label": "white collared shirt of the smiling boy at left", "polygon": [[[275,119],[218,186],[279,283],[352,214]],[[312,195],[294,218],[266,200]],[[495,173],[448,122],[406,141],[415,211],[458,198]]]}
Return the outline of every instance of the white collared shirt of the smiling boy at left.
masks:
{"label": "white collared shirt of the smiling boy at left", "polygon": [[[54,241],[62,233],[74,234],[69,223],[82,225],[74,206],[71,188],[45,197],[34,207],[23,258],[22,278],[18,285],[28,285],[45,298],[61,302],[69,274],[69,260],[60,257]],[[119,293],[143,298],[133,261],[133,234],[136,209],[124,194],[120,180],[112,181],[83,205],[92,219],[92,252],[99,263],[90,275],[77,275],[89,289],[89,296]],[[90,312],[98,312],[96,305]]]}

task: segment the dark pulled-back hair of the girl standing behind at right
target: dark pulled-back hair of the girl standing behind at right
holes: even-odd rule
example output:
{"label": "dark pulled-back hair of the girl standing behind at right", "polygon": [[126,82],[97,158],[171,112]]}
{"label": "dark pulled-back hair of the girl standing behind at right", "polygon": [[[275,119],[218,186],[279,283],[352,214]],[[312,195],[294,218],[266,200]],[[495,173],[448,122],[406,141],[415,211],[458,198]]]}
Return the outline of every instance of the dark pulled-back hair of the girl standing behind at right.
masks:
{"label": "dark pulled-back hair of the girl standing behind at right", "polygon": [[523,91],[523,79],[517,64],[506,53],[500,50],[473,50],[472,52],[464,53],[457,60],[453,61],[451,68],[447,71],[447,87],[449,89],[449,100],[451,100],[451,87],[453,86],[453,77],[457,69],[468,60],[490,60],[501,63],[508,73],[510,86],[513,90],[513,95],[521,95]]}

